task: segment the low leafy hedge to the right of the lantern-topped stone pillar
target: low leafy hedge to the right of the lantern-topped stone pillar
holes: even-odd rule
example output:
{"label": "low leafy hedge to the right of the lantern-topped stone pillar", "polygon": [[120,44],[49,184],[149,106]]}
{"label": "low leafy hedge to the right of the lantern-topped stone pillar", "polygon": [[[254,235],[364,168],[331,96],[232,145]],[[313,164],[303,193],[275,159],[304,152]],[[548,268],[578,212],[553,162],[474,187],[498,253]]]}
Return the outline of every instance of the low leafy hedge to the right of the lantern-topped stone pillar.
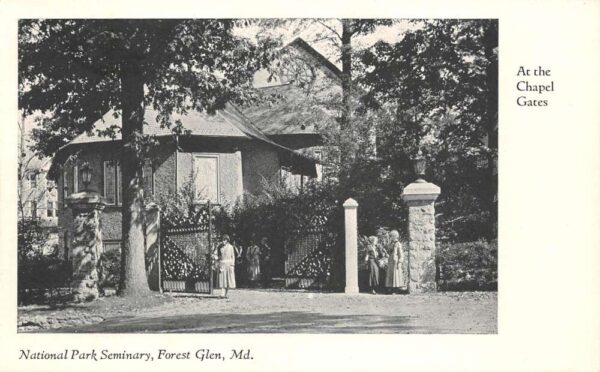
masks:
{"label": "low leafy hedge to the right of the lantern-topped stone pillar", "polygon": [[436,265],[439,290],[498,289],[497,241],[439,244]]}

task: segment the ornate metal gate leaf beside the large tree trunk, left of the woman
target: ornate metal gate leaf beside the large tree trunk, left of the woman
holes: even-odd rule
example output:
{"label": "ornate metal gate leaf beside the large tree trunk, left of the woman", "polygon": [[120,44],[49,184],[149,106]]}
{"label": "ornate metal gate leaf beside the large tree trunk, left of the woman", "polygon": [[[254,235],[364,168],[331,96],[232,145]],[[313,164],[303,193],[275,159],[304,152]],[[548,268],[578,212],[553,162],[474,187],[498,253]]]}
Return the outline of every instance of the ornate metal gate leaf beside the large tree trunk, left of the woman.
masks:
{"label": "ornate metal gate leaf beside the large tree trunk, left of the woman", "polygon": [[161,218],[161,290],[212,292],[214,249],[210,211],[209,203],[186,218]]}

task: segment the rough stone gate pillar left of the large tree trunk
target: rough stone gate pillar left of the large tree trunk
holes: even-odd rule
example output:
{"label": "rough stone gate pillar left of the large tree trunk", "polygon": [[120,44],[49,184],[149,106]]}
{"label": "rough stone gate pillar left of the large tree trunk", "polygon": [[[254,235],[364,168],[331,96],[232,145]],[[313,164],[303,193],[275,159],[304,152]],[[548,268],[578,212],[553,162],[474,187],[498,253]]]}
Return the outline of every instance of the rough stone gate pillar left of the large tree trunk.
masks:
{"label": "rough stone gate pillar left of the large tree trunk", "polygon": [[67,203],[73,210],[71,262],[73,265],[73,300],[91,301],[98,298],[96,264],[102,251],[100,215],[106,206],[104,198],[93,191],[69,195]]}

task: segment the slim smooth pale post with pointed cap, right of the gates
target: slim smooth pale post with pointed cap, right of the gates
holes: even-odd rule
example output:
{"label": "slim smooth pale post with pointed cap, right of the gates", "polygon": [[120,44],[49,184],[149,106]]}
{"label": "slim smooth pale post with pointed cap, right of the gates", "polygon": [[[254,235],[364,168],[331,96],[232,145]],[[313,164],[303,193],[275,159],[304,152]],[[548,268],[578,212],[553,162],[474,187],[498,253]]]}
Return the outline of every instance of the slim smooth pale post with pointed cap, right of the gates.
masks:
{"label": "slim smooth pale post with pointed cap, right of the gates", "polygon": [[358,229],[356,227],[356,209],[358,203],[350,198],[344,202],[344,231],[346,247],[346,287],[344,293],[358,293]]}

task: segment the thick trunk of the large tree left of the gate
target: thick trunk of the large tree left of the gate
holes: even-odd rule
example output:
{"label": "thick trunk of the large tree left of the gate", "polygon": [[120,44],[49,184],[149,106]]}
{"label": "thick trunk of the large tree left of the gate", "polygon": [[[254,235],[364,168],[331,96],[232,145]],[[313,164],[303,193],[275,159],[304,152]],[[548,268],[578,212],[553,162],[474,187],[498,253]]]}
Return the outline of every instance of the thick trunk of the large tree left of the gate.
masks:
{"label": "thick trunk of the large tree left of the gate", "polygon": [[144,82],[139,63],[134,59],[122,62],[120,74],[123,220],[119,294],[140,296],[150,292],[144,247],[143,159],[139,150],[144,124]]}

